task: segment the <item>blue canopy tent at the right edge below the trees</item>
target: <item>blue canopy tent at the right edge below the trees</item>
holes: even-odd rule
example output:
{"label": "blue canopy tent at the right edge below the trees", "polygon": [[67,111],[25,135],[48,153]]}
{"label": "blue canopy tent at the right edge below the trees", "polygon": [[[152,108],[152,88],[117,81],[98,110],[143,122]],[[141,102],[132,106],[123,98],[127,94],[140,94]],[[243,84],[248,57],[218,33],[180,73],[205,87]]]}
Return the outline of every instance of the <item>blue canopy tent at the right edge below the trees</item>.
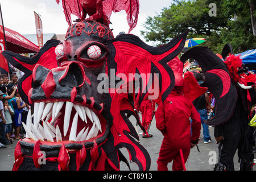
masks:
{"label": "blue canopy tent at the right edge below the trees", "polygon": [[236,56],[241,55],[243,63],[249,69],[256,69],[256,49],[251,49],[242,53],[237,53]]}

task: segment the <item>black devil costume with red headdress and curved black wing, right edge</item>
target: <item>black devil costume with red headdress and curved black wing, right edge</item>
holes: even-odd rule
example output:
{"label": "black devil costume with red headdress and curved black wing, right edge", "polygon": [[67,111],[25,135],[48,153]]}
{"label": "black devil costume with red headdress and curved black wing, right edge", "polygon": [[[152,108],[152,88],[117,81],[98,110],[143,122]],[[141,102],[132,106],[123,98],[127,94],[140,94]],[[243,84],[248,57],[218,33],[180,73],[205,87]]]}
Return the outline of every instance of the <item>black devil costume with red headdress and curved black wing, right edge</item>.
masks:
{"label": "black devil costume with red headdress and curved black wing, right edge", "polygon": [[[228,53],[232,55],[228,56]],[[219,145],[219,161],[216,170],[234,170],[233,157],[238,149],[240,170],[253,167],[253,128],[248,125],[250,106],[255,104],[256,77],[248,72],[239,56],[234,56],[230,44],[221,53],[223,59],[205,47],[189,49],[181,61],[197,60],[204,72],[204,86],[216,99],[215,115],[204,121],[214,126],[214,137]],[[226,59],[227,57],[227,59]],[[223,137],[223,138],[222,138]]]}

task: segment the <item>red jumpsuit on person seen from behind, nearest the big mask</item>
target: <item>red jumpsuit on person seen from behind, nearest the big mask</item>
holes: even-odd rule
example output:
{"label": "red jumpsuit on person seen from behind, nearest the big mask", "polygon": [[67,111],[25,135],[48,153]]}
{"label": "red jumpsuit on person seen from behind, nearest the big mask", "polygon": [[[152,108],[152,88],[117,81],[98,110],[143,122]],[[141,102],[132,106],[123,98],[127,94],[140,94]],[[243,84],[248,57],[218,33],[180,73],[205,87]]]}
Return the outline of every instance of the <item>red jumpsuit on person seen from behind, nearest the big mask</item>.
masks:
{"label": "red jumpsuit on person seen from behind, nearest the big mask", "polygon": [[[168,170],[167,164],[172,162],[174,171],[183,170],[180,149],[183,152],[184,163],[187,162],[191,149],[191,142],[200,136],[201,121],[192,102],[181,92],[172,90],[156,110],[156,127],[164,135],[160,148],[158,163],[159,171]],[[192,119],[190,122],[189,117]],[[192,129],[192,135],[191,135]]]}

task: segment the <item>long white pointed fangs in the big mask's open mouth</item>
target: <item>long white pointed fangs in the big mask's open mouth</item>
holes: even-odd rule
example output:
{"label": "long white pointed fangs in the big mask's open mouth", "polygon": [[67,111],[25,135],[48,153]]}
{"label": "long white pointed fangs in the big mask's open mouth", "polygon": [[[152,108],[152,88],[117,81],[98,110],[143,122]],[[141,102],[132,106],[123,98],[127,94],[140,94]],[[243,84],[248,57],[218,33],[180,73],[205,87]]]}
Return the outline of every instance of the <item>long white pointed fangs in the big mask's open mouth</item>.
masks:
{"label": "long white pointed fangs in the big mask's open mouth", "polygon": [[[24,129],[26,130],[26,137],[33,140],[46,139],[51,142],[53,142],[53,139],[56,138],[56,142],[62,141],[59,126],[57,125],[55,128],[52,124],[62,114],[60,110],[63,105],[64,102],[49,102],[48,104],[45,104],[44,102],[35,102],[34,116],[31,115],[31,110],[29,110],[27,115],[27,123],[22,123]],[[66,102],[63,127],[64,137],[67,135],[73,107],[75,107],[77,113],[73,118],[69,140],[75,142],[84,141],[96,137],[98,135],[98,131],[102,132],[100,119],[98,119],[98,116],[91,109],[86,106],[73,104],[72,102]],[[87,129],[84,127],[79,134],[76,134],[78,118],[80,117],[82,121],[87,123],[88,121],[86,116],[93,123],[92,128],[88,132],[89,127],[87,127]],[[32,117],[34,117],[34,124],[32,123]],[[51,122],[48,122],[51,117]],[[43,120],[44,118],[46,119]],[[43,126],[40,125],[40,121],[43,121]]]}

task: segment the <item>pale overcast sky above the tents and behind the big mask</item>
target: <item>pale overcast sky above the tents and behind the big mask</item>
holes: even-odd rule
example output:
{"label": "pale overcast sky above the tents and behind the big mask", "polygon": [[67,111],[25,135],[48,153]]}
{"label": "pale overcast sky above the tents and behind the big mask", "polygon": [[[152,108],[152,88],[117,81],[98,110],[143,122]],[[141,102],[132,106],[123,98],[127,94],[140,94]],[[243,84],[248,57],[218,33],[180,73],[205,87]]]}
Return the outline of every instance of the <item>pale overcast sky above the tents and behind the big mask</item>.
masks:
{"label": "pale overcast sky above the tents and behind the big mask", "polygon": [[[65,20],[61,1],[59,5],[55,0],[0,0],[0,3],[4,26],[22,35],[36,34],[34,11],[41,15],[43,34],[67,32],[68,23]],[[137,35],[144,41],[140,31],[143,30],[142,24],[146,22],[147,16],[160,14],[163,7],[171,5],[172,0],[140,0],[139,3],[138,23],[130,34]],[[76,16],[72,16],[72,19],[75,20]],[[110,21],[114,36],[121,31],[128,33],[125,11],[112,13]]]}

